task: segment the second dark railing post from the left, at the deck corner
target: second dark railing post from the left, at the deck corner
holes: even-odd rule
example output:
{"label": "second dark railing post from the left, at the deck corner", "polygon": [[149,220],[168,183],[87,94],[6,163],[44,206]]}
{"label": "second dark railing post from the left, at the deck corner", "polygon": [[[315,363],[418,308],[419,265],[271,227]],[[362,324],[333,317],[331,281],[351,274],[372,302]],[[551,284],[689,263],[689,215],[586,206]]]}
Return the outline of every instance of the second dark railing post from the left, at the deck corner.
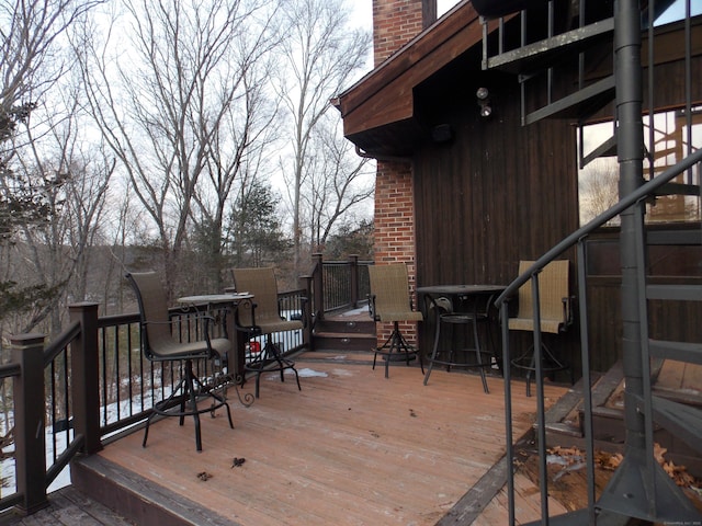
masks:
{"label": "second dark railing post from the left, at the deck corner", "polygon": [[73,428],[82,434],[82,450],[102,449],[100,439],[100,356],[98,350],[98,304],[80,302],[68,307],[71,321],[80,322],[80,334],[71,343],[71,397]]}

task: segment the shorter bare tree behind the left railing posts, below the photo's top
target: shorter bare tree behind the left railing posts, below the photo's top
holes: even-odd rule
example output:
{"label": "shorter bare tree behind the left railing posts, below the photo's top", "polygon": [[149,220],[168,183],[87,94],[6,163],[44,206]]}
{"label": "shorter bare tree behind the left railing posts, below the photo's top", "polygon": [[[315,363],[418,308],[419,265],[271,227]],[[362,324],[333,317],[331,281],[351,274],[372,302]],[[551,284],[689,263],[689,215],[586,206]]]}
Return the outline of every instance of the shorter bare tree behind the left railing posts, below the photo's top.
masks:
{"label": "shorter bare tree behind the left railing posts, below the photo's top", "polygon": [[70,82],[67,90],[64,104],[47,113],[43,123],[47,132],[43,136],[35,138],[31,119],[27,122],[27,148],[18,156],[16,172],[41,191],[47,220],[19,226],[21,242],[13,249],[20,252],[15,263],[24,264],[14,265],[15,276],[18,282],[41,284],[52,291],[44,301],[34,304],[23,332],[48,317],[47,330],[58,333],[66,299],[87,299],[90,248],[101,232],[114,171],[114,162],[102,157],[79,133],[84,117],[79,111],[80,92]]}

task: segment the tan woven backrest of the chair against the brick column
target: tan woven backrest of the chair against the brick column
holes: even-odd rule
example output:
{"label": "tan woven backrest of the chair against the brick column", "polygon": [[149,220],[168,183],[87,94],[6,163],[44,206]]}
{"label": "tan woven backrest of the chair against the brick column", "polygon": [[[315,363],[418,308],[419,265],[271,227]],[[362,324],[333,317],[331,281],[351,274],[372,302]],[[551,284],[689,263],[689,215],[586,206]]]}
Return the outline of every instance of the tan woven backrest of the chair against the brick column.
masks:
{"label": "tan woven backrest of the chair against the brick column", "polygon": [[387,316],[412,312],[405,263],[370,265],[369,277],[376,319],[384,321]]}

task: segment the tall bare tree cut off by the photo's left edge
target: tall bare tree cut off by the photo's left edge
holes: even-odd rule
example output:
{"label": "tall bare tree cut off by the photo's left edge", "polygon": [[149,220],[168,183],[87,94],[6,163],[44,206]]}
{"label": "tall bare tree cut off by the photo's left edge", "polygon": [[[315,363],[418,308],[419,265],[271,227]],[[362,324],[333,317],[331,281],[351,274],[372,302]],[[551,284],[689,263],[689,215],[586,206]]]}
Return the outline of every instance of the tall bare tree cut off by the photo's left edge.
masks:
{"label": "tall bare tree cut off by the photo's left edge", "polygon": [[[70,70],[70,56],[63,53],[63,35],[68,27],[102,3],[102,0],[29,0],[0,4],[0,224],[2,283],[0,312],[7,322],[11,312],[36,309],[33,320],[16,318],[13,330],[29,330],[46,316],[48,304],[57,296],[57,283],[45,275],[23,279],[13,261],[16,251],[31,252],[27,236],[46,230],[55,217],[55,197],[64,175],[43,171],[36,162],[37,139],[54,132],[56,121],[48,119],[49,105],[59,80]],[[37,110],[38,108],[38,110]],[[30,122],[30,115],[33,115]],[[31,133],[30,133],[31,132]],[[60,161],[54,158],[59,164]],[[35,247],[38,249],[38,247]],[[36,250],[34,258],[37,256]],[[35,260],[36,261],[36,260]],[[7,265],[7,266],[5,266]],[[20,265],[24,271],[25,265]],[[22,324],[20,324],[22,323]],[[54,323],[54,330],[57,323]],[[0,332],[2,325],[0,325]]]}

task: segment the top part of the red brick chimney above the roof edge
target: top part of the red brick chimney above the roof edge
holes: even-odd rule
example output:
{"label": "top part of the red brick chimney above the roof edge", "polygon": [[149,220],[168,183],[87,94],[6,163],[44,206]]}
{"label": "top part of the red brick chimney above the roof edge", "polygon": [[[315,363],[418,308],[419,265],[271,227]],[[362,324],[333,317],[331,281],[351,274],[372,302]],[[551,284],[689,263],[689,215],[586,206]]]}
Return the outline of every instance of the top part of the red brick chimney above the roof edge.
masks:
{"label": "top part of the red brick chimney above the roof edge", "polygon": [[373,0],[375,66],[429,27],[435,20],[437,0]]}

